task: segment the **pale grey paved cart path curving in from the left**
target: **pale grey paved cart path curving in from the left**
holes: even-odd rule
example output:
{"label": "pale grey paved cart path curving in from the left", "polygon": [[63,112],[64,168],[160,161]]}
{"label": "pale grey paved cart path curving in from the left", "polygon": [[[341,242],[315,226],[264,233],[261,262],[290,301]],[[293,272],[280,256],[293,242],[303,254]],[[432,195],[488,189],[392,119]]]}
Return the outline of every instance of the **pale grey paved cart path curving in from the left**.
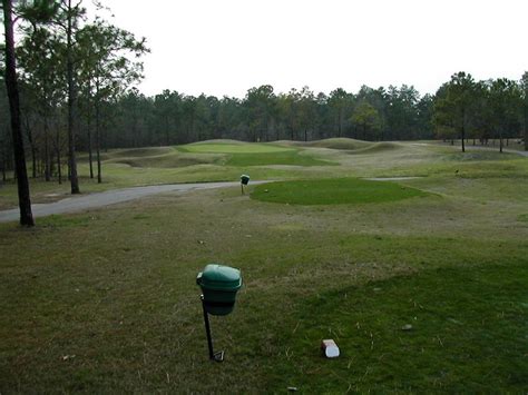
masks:
{"label": "pale grey paved cart path curving in from the left", "polygon": [[[252,181],[251,184],[262,184],[267,181]],[[139,199],[146,196],[163,192],[187,192],[197,189],[213,189],[222,187],[239,187],[239,182],[195,182],[195,184],[170,184],[153,185],[147,187],[134,187],[125,189],[107,190],[98,194],[71,196],[69,198],[47,204],[31,205],[33,217],[46,217],[53,214],[77,213],[90,208],[99,208],[117,203]],[[18,208],[0,211],[0,223],[19,220],[20,211]]]}

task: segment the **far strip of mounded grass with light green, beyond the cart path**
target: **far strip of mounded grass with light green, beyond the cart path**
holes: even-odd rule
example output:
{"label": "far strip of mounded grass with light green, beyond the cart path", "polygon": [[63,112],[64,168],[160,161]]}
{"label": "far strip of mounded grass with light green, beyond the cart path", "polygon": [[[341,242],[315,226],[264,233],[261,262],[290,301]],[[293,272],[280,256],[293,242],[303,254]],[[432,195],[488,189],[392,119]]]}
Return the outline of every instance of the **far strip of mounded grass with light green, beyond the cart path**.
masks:
{"label": "far strip of mounded grass with light green, beyond the cart path", "polygon": [[[307,144],[276,141],[270,145],[209,140],[184,147],[196,146],[213,146],[221,150],[225,150],[221,146],[228,146],[228,150],[236,151],[184,152],[180,147],[108,150],[104,154],[102,184],[89,178],[88,156],[79,155],[80,189],[82,192],[94,192],[154,184],[238,180],[241,174],[245,172],[250,174],[253,180],[434,176],[465,179],[506,177],[526,182],[528,177],[528,160],[519,155],[488,151],[460,154],[457,147],[424,141],[375,144],[326,139]],[[340,146],[344,149],[338,149]],[[277,147],[286,151],[276,151]],[[247,149],[273,151],[241,151]],[[56,201],[68,197],[69,186],[67,180],[63,182],[59,186],[56,179],[51,182],[41,178],[30,179],[32,203]],[[17,188],[10,179],[0,184],[0,209],[16,206]]]}

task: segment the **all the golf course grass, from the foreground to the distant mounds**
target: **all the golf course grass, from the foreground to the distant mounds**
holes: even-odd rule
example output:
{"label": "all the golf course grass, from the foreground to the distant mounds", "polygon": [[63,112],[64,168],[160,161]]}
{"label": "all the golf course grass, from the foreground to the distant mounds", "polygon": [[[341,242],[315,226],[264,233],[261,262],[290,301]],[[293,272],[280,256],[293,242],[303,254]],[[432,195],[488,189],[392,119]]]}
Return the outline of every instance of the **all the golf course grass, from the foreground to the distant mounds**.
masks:
{"label": "all the golf course grass, from the foreground to the distant mounds", "polygon": [[[235,187],[40,218],[33,229],[0,224],[0,393],[525,392],[528,159],[465,160],[411,144],[303,150],[340,165],[255,166],[252,180],[323,190],[335,178],[412,175],[424,177],[380,187],[428,196],[286,205]],[[105,168],[101,189],[246,170]],[[233,314],[212,318],[223,364],[207,361],[195,285],[211,261],[244,278]],[[321,356],[323,338],[340,358]]]}

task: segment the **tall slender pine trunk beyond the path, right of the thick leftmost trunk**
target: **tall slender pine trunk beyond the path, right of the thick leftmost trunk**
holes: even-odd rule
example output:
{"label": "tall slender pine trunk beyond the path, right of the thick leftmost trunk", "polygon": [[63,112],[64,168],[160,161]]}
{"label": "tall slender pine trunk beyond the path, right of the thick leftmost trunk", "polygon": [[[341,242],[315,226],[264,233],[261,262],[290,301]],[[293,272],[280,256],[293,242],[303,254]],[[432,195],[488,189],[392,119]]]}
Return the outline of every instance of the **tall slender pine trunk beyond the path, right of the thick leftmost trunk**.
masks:
{"label": "tall slender pine trunk beyond the path, right of the thick leftmost trunk", "polygon": [[76,121],[76,87],[74,80],[74,51],[72,51],[72,11],[71,0],[68,0],[68,28],[67,28],[67,77],[68,77],[68,156],[71,194],[80,194],[79,179],[77,177],[77,159],[75,155],[75,121]]}

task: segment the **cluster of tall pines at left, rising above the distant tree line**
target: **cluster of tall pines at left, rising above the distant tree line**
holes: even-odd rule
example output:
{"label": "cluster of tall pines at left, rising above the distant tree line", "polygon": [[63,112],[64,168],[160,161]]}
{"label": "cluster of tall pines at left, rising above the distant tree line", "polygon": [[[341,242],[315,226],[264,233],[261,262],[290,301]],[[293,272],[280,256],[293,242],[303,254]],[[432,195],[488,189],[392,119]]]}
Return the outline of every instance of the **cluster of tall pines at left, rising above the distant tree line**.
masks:
{"label": "cluster of tall pines at left, rising above the distant tree line", "polygon": [[[99,2],[94,4],[102,9]],[[88,22],[82,0],[2,0],[1,11],[6,41],[0,68],[6,92],[0,103],[7,101],[10,113],[10,130],[2,134],[2,141],[11,140],[20,223],[32,226],[27,146],[33,176],[40,169],[47,181],[55,165],[58,180],[62,181],[61,156],[66,151],[71,194],[79,194],[76,152],[84,118],[89,126],[90,175],[94,177],[95,144],[100,182],[100,108],[143,77],[138,58],[148,49],[145,39],[137,40],[105,20],[96,17]],[[17,28],[21,37],[18,46]],[[4,179],[10,152],[0,151]]]}

